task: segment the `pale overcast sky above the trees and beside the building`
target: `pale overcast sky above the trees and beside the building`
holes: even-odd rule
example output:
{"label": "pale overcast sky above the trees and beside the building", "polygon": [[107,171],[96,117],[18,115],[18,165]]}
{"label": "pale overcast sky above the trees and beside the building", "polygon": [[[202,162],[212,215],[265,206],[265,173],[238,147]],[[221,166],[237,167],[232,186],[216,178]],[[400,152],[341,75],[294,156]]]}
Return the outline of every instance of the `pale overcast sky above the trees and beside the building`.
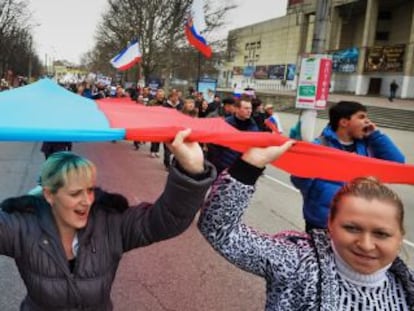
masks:
{"label": "pale overcast sky above the trees and beside the building", "polygon": [[[107,0],[29,0],[33,12],[36,50],[42,61],[66,59],[78,63],[93,47],[95,28]],[[236,0],[239,7],[226,30],[283,16],[287,0]],[[46,56],[47,55],[47,56]]]}

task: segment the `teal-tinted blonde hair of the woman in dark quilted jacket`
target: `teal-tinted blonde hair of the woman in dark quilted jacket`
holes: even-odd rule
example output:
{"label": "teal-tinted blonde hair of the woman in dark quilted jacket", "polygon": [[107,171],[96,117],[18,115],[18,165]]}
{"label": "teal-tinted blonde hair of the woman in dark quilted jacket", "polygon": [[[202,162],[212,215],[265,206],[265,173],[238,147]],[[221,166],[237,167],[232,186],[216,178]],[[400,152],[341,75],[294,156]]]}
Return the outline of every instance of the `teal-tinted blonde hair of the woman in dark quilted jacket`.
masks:
{"label": "teal-tinted blonde hair of the woman in dark quilted jacket", "polygon": [[82,174],[91,180],[96,176],[96,167],[88,159],[72,152],[53,153],[41,167],[41,186],[49,188],[51,193],[56,193],[66,184],[68,175],[72,172]]}

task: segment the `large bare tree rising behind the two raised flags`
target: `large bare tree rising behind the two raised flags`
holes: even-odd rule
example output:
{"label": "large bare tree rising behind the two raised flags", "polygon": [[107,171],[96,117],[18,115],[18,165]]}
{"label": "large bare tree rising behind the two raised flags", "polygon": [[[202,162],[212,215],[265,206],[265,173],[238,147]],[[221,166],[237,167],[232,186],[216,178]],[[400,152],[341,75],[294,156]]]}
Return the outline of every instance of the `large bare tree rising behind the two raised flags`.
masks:
{"label": "large bare tree rising behind the two raised flags", "polygon": [[[143,76],[146,79],[153,74],[162,76],[168,84],[173,72],[183,64],[183,53],[191,53],[184,38],[191,0],[108,0],[108,3],[109,9],[96,33],[97,52],[90,57],[91,67],[103,68],[128,41],[138,38]],[[226,13],[234,7],[229,2],[206,7],[207,34],[222,27]]]}

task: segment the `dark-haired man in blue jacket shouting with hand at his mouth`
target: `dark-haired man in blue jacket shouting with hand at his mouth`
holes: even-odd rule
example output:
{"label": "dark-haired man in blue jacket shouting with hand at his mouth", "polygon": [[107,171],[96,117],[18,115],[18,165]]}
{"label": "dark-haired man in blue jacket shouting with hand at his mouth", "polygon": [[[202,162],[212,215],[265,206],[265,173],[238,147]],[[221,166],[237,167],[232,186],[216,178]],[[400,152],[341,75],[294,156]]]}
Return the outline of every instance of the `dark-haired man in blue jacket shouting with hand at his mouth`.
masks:
{"label": "dark-haired man in blue jacket shouting with hand at his mouth", "polygon": [[[404,163],[404,155],[391,139],[368,118],[367,108],[352,101],[340,101],[329,109],[329,123],[314,143],[356,154]],[[326,228],[330,202],[340,181],[291,176],[303,197],[306,231]]]}

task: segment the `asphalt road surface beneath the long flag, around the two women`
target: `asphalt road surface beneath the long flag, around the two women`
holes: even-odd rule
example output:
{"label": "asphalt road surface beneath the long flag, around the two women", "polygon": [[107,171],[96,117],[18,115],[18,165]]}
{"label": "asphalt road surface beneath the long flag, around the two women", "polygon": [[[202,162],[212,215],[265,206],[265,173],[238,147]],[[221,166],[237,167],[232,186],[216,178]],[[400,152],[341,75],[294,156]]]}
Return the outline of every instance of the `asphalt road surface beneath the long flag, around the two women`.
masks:
{"label": "asphalt road surface beneath the long flag, around the two women", "polygon": [[[288,130],[296,116],[281,113]],[[318,120],[316,133],[326,121]],[[414,164],[412,133],[384,129]],[[27,192],[35,185],[43,156],[39,143],[0,142],[0,200]],[[161,159],[149,157],[149,144],[139,151],[129,142],[75,143],[74,151],[98,167],[98,184],[123,193],[131,203],[153,201],[161,192],[166,171]],[[269,167],[260,178],[245,221],[274,233],[303,229],[301,197],[285,172]],[[414,241],[414,189],[392,185],[406,205],[407,240]],[[406,245],[414,258],[414,248]],[[0,310],[18,310],[25,294],[11,259],[0,256]],[[217,255],[194,223],[181,236],[131,251],[123,257],[112,290],[115,310],[263,310],[264,281],[241,271]]]}

